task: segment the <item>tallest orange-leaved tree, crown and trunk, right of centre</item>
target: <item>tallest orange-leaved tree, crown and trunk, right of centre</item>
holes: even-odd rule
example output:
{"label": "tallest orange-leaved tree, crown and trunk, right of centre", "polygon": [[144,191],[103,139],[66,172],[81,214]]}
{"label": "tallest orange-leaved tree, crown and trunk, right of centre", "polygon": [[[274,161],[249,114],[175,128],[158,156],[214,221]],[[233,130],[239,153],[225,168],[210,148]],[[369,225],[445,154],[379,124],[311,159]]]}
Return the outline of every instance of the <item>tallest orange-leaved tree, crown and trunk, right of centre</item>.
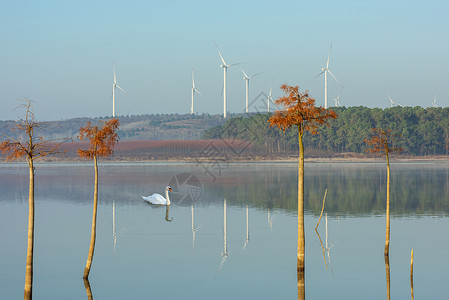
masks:
{"label": "tallest orange-leaved tree, crown and trunk, right of centre", "polygon": [[285,96],[276,100],[276,104],[284,110],[276,111],[268,120],[270,126],[278,126],[285,130],[296,126],[298,128],[299,165],[298,165],[298,254],[297,270],[304,272],[304,143],[303,135],[306,131],[317,134],[319,125],[327,125],[329,119],[337,118],[332,110],[315,106],[315,99],[308,91],[299,92],[298,86],[282,85]]}

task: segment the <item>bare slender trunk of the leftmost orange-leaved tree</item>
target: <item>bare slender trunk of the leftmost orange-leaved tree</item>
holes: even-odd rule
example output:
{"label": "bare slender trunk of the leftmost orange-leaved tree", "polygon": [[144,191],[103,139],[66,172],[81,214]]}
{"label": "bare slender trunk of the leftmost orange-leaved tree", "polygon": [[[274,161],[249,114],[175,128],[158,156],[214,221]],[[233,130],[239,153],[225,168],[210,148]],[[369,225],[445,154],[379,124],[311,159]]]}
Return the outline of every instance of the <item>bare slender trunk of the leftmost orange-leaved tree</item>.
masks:
{"label": "bare slender trunk of the leftmost orange-leaved tree", "polygon": [[28,167],[30,169],[30,186],[28,194],[28,243],[27,243],[27,262],[25,270],[25,290],[23,299],[31,300],[33,298],[33,252],[34,252],[34,165],[33,159],[27,157]]}

